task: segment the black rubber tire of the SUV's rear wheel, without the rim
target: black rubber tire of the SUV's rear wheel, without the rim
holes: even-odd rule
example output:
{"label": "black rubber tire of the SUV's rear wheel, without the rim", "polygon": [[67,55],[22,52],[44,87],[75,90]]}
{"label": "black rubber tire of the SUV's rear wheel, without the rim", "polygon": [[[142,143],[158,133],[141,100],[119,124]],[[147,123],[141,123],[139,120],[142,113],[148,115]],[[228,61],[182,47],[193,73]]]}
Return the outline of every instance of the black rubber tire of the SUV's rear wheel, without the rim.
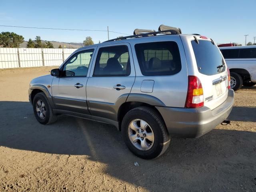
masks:
{"label": "black rubber tire of the SUV's rear wheel, without the rim", "polygon": [[[146,121],[154,133],[154,143],[148,150],[136,148],[129,139],[129,125],[135,119]],[[170,136],[163,120],[154,109],[149,107],[138,107],[127,112],[122,120],[121,131],[122,138],[129,150],[143,159],[153,159],[162,155],[170,144]]]}

